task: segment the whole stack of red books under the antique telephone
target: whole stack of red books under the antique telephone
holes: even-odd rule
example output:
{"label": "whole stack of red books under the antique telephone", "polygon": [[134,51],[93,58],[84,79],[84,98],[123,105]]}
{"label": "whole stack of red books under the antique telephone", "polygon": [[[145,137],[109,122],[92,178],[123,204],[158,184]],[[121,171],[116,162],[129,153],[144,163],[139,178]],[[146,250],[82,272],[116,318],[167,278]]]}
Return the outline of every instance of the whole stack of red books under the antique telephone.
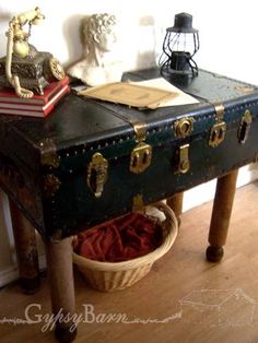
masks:
{"label": "whole stack of red books under the antique telephone", "polygon": [[46,117],[60,98],[70,92],[69,78],[52,82],[44,88],[43,95],[21,98],[13,90],[0,90],[0,114],[28,117]]}

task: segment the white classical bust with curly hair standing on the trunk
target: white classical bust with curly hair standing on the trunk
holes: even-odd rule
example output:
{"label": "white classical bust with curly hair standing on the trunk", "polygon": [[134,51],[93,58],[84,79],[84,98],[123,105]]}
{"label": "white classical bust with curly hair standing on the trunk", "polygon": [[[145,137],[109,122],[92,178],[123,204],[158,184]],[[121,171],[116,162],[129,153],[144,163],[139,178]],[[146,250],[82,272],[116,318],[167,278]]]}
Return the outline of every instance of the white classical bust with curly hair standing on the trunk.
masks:
{"label": "white classical bust with curly hair standing on the trunk", "polygon": [[118,60],[117,20],[107,13],[92,14],[82,21],[81,38],[84,57],[68,69],[68,74],[90,86],[121,80],[122,63]]}

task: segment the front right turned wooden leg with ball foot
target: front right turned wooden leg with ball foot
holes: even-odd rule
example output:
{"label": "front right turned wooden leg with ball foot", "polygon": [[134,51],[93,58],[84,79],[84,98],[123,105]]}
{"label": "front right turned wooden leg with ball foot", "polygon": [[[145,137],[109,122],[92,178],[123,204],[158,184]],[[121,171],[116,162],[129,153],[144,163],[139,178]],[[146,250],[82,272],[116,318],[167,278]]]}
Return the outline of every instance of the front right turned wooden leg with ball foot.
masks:
{"label": "front right turned wooden leg with ball foot", "polygon": [[213,203],[207,259],[211,262],[219,262],[223,255],[223,246],[226,241],[230,226],[231,212],[236,189],[237,170],[232,172],[216,181],[216,191]]}

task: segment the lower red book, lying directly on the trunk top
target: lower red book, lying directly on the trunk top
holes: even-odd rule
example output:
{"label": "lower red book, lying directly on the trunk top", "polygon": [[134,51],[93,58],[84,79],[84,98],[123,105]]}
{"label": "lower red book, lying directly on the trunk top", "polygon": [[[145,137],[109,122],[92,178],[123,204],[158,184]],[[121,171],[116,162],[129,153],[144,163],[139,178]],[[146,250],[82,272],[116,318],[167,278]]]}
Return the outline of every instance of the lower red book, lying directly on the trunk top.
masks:
{"label": "lower red book, lying directly on the trunk top", "polygon": [[27,117],[46,117],[54,109],[55,104],[70,92],[68,84],[62,85],[46,104],[35,103],[5,103],[0,99],[0,114],[19,115]]}

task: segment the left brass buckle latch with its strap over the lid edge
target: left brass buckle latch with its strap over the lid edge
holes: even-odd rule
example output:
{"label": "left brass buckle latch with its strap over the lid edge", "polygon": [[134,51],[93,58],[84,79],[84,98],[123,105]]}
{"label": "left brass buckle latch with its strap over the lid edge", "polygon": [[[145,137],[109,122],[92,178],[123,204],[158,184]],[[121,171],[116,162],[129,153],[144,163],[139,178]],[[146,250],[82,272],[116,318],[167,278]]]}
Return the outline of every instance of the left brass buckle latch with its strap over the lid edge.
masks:
{"label": "left brass buckle latch with its strap over the lid edge", "polygon": [[132,150],[130,156],[130,172],[140,174],[144,172],[151,164],[152,146],[144,142],[145,140],[145,125],[136,123],[133,129],[137,135],[137,146]]}

